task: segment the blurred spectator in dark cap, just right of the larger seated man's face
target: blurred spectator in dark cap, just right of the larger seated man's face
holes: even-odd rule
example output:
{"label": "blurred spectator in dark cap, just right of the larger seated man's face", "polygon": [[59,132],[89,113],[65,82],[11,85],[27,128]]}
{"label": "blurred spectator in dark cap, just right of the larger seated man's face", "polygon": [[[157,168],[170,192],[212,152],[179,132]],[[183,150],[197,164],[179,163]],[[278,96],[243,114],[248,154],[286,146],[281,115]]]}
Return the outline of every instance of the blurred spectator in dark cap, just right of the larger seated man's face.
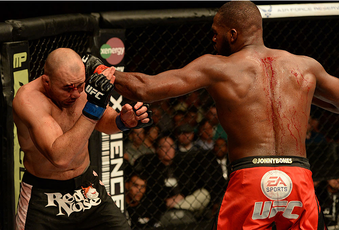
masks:
{"label": "blurred spectator in dark cap, just right of the larger seated man's face", "polygon": [[190,124],[180,125],[175,129],[177,153],[196,151],[194,147],[194,128]]}

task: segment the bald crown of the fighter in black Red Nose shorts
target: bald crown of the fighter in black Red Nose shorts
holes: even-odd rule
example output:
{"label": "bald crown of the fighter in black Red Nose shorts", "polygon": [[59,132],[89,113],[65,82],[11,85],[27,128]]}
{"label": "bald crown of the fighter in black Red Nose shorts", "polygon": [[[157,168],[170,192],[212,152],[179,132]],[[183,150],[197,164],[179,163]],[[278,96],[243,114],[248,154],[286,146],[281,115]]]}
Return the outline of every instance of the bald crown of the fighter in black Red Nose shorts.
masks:
{"label": "bald crown of the fighter in black Red Nose shorts", "polygon": [[84,63],[74,50],[59,48],[48,55],[44,65],[44,74],[52,80],[61,69],[78,72],[82,68],[84,68]]}

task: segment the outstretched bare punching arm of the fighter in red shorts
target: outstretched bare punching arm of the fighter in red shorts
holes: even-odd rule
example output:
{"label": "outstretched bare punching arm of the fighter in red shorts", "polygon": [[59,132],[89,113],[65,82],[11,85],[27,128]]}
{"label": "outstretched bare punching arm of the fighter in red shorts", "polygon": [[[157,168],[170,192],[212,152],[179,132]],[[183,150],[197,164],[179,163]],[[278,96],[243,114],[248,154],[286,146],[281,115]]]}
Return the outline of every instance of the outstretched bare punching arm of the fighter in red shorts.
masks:
{"label": "outstretched bare punching arm of the fighter in red shorts", "polygon": [[204,55],[181,69],[169,70],[154,76],[142,73],[115,72],[115,90],[134,101],[153,102],[185,95],[209,87],[212,81],[210,66],[215,56]]}

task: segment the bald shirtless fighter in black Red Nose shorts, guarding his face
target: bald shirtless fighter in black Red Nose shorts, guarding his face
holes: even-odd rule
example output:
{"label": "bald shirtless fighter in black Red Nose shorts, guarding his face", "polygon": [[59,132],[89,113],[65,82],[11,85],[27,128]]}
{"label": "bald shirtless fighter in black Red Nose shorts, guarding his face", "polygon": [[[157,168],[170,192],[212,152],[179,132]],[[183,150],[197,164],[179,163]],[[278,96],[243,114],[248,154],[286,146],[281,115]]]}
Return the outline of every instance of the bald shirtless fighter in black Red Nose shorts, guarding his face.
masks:
{"label": "bald shirtless fighter in black Red Nose shorts, guarding his face", "polygon": [[143,103],[119,114],[108,106],[111,81],[98,73],[85,78],[81,57],[60,48],[48,55],[44,74],[18,90],[13,114],[26,172],[16,229],[130,229],[89,165],[88,138],[94,128],[112,134],[152,119]]}

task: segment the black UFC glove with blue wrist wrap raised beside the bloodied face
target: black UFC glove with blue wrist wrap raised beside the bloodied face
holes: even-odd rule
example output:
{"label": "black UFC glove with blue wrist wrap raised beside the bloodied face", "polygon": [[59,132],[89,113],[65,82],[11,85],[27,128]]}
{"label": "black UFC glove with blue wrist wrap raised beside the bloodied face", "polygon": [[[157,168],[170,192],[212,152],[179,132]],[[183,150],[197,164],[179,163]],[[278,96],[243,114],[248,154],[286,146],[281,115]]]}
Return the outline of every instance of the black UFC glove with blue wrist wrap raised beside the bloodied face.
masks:
{"label": "black UFC glove with blue wrist wrap raised beside the bloodied face", "polygon": [[99,120],[104,114],[109,102],[114,84],[103,74],[93,74],[85,84],[87,103],[83,109],[83,114],[92,119]]}

